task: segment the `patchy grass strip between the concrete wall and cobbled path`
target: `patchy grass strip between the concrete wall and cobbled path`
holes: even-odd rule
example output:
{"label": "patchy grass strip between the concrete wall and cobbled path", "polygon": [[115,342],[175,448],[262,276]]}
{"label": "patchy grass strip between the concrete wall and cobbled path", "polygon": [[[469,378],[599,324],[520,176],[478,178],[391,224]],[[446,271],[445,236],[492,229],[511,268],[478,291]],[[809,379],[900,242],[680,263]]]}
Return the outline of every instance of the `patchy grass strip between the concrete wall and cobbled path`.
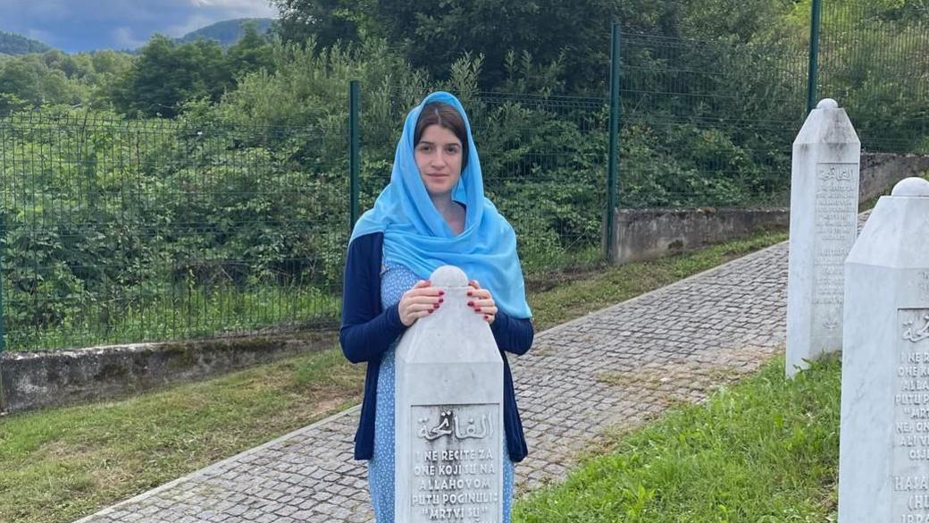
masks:
{"label": "patchy grass strip between the concrete wall and cobbled path", "polygon": [[[656,262],[532,276],[536,327],[785,238],[763,233]],[[333,343],[223,378],[0,418],[0,521],[69,522],[357,404],[363,367],[348,364]]]}

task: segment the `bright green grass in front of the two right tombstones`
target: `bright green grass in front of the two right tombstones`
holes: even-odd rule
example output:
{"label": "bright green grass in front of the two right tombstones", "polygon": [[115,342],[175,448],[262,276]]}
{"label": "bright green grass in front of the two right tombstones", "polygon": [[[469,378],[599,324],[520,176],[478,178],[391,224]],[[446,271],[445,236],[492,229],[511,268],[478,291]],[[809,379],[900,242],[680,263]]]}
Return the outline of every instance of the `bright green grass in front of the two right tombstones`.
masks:
{"label": "bright green grass in front of the two right tombstones", "polygon": [[777,357],[704,404],[605,440],[569,478],[516,503],[517,523],[834,522],[838,359],[794,380]]}

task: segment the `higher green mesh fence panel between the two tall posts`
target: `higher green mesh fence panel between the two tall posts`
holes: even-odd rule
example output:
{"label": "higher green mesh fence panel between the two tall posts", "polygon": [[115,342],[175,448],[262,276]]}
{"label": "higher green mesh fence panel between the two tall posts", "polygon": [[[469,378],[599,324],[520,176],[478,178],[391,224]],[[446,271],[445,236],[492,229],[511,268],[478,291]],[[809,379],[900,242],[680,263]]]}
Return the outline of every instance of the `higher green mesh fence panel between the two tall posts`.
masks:
{"label": "higher green mesh fence panel between the two tall posts", "polygon": [[786,204],[803,47],[622,34],[621,48],[621,208]]}

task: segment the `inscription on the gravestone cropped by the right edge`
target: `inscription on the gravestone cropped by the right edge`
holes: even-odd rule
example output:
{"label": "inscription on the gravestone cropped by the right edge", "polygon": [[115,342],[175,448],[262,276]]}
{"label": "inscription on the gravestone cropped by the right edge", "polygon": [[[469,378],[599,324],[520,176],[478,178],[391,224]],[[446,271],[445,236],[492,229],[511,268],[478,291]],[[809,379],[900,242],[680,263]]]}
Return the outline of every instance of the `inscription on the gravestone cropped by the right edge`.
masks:
{"label": "inscription on the gravestone cropped by the right edge", "polygon": [[929,309],[897,311],[893,519],[929,523]]}

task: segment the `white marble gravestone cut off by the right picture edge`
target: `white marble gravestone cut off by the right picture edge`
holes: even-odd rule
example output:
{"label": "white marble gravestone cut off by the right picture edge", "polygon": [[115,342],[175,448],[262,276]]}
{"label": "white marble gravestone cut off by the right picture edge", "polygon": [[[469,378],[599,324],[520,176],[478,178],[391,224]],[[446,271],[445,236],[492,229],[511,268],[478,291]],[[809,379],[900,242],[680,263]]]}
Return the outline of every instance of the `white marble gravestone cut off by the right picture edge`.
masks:
{"label": "white marble gravestone cut off by the right picture edge", "polygon": [[845,282],[839,523],[929,522],[929,181],[878,201]]}

